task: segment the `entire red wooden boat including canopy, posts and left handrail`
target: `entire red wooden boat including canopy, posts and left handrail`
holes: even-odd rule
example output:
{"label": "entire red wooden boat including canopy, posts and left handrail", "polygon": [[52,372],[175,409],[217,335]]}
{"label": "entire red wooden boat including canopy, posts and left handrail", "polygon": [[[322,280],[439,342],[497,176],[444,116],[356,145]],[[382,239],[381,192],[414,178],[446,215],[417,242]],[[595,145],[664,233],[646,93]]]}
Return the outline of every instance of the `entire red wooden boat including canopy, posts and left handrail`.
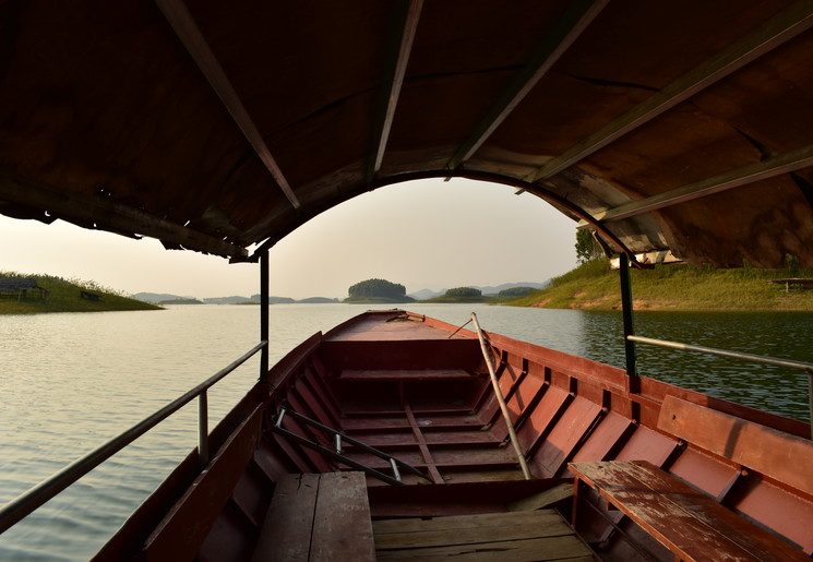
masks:
{"label": "entire red wooden boat including canopy, posts and left handrail", "polygon": [[99,559],[809,558],[810,426],[638,376],[629,265],[813,265],[812,26],[809,0],[0,2],[0,213],[259,262],[267,299],[268,250],[334,205],[502,183],[620,256],[627,346],[481,354],[375,312],[270,368],[263,307],[211,435],[228,368],[0,530],[200,396],[198,450]]}

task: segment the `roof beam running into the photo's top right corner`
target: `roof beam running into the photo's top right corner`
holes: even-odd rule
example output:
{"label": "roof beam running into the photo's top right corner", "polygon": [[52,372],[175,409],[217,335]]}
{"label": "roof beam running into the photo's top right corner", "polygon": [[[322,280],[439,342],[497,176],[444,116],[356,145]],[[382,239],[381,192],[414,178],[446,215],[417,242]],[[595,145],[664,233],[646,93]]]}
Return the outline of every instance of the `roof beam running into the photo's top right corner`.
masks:
{"label": "roof beam running into the photo's top right corner", "polygon": [[524,179],[534,183],[555,176],[811,26],[813,2],[801,0]]}

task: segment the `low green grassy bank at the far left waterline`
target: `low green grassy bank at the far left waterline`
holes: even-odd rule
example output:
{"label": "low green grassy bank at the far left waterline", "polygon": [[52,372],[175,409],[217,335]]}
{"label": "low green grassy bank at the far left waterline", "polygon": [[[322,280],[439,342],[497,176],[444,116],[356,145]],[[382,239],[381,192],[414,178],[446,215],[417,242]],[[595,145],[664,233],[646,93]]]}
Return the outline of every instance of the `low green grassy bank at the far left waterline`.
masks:
{"label": "low green grassy bank at the far left waterline", "polygon": [[[160,307],[134,300],[93,282],[68,280],[48,275],[0,273],[0,278],[34,278],[45,289],[28,290],[26,296],[0,295],[0,314],[31,314],[37,312],[101,312],[110,310],[158,310]],[[85,294],[85,298],[82,294]],[[95,296],[95,297],[94,297]]]}

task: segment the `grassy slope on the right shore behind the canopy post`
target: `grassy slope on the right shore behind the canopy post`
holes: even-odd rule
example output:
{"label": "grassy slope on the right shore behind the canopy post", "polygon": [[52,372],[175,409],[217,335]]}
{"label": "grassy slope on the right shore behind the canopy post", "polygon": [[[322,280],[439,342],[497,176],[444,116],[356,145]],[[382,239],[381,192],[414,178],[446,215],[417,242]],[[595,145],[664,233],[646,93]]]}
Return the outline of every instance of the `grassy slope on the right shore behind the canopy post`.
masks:
{"label": "grassy slope on the right shore behind the canopy post", "polygon": [[[635,310],[799,310],[813,311],[813,290],[773,285],[772,279],[813,277],[813,270],[715,270],[692,265],[659,265],[633,270]],[[550,287],[514,306],[615,310],[621,308],[619,273],[606,260],[584,263],[551,280]]]}

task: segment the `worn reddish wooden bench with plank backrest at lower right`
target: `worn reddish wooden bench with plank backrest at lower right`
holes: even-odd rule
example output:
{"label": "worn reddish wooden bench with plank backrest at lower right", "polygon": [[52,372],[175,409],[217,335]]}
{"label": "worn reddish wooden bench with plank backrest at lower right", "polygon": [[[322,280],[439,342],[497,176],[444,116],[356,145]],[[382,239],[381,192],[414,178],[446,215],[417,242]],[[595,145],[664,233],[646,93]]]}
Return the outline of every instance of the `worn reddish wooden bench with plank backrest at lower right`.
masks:
{"label": "worn reddish wooden bench with plank backrest at lower right", "polygon": [[[612,507],[684,560],[810,561],[804,552],[718,501],[741,478],[742,469],[781,482],[787,489],[799,490],[800,498],[813,494],[809,470],[813,466],[813,442],[675,396],[665,397],[657,427],[690,444],[691,451],[685,451],[670,468],[674,475],[645,462],[574,463],[570,466],[576,475],[576,495],[578,482],[589,486]],[[696,463],[701,453],[707,458],[706,463],[719,466],[727,463],[725,469],[717,470],[716,482],[707,481],[708,470],[697,465],[694,468],[680,466],[684,455],[693,455]],[[769,487],[762,481],[751,486]],[[770,499],[763,495],[760,501]],[[789,509],[788,503],[782,505]],[[779,530],[784,531],[780,534],[791,536],[791,540],[808,550],[809,533],[789,530],[787,518],[779,525]]]}

